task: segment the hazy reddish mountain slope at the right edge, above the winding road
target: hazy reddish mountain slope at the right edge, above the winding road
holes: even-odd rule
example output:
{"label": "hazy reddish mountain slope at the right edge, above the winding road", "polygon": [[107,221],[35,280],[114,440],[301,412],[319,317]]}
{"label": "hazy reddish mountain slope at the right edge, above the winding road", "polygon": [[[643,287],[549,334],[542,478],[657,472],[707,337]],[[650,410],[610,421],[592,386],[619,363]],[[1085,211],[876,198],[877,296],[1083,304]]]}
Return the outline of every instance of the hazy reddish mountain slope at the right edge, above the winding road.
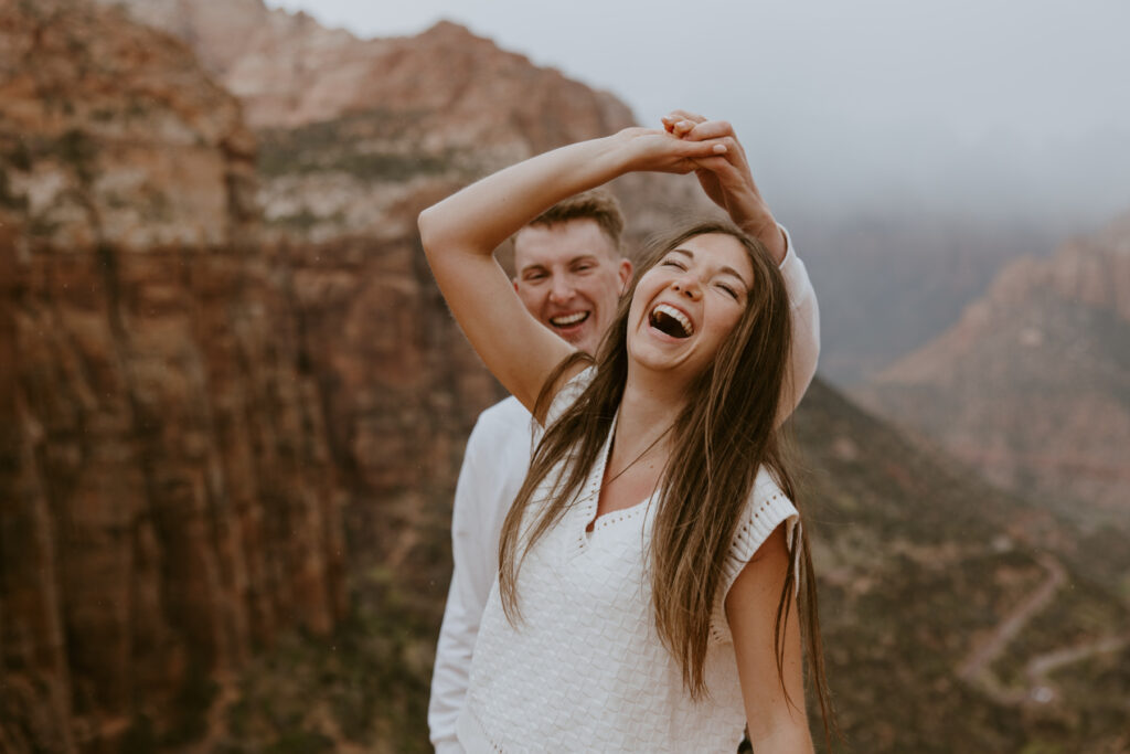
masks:
{"label": "hazy reddish mountain slope at the right edge, above the winding road", "polygon": [[989,478],[1084,518],[1130,511],[1130,216],[1017,261],[866,392]]}

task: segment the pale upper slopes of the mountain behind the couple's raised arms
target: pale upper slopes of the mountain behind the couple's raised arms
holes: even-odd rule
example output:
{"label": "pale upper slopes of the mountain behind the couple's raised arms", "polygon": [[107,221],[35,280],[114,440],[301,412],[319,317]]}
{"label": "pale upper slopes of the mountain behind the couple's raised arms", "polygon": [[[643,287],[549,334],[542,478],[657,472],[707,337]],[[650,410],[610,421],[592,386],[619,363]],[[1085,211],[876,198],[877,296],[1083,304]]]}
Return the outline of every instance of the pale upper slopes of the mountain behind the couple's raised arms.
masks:
{"label": "pale upper slopes of the mountain behind the couple's raised arms", "polygon": [[[184,40],[240,98],[260,136],[259,200],[277,236],[411,233],[399,208],[426,187],[450,191],[634,124],[610,94],[450,23],[414,37],[358,40],[262,0],[98,1]],[[614,190],[633,241],[664,227],[672,211],[710,207],[693,179],[635,175]]]}

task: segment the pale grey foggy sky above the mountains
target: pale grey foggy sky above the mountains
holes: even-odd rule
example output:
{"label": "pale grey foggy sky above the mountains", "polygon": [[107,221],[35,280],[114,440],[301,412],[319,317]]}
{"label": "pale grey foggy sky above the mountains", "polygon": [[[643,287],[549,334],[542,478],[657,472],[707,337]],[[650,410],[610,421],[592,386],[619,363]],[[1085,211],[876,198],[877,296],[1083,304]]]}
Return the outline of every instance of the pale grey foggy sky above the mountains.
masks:
{"label": "pale grey foggy sky above the mountains", "polygon": [[1130,210],[1121,0],[268,0],[358,36],[440,18],[625,101],[730,120],[775,207],[1006,215]]}

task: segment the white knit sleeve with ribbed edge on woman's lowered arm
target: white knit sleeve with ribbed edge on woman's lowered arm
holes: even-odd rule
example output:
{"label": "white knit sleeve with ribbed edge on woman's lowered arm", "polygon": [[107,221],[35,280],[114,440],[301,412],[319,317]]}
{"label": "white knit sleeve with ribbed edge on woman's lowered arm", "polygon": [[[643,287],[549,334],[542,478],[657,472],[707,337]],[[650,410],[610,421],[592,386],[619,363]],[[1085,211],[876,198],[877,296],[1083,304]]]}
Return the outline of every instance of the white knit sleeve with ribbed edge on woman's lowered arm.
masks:
{"label": "white knit sleeve with ribbed edge on woman's lowered arm", "polygon": [[[754,557],[757,549],[770,538],[770,535],[781,525],[784,525],[785,544],[792,548],[793,538],[800,535],[800,513],[792,504],[792,501],[781,491],[773,476],[764,468],[758,473],[754,483],[754,491],[746,502],[746,510],[738,529],[730,540],[730,551],[725,563],[722,565],[722,582],[719,596],[715,600],[714,612],[711,616],[711,639],[714,641],[731,641],[730,625],[725,619],[725,597],[730,593],[730,587],[738,580],[738,574],[746,567],[746,564]],[[798,563],[794,564],[794,572],[799,571]],[[799,588],[799,582],[798,582]]]}

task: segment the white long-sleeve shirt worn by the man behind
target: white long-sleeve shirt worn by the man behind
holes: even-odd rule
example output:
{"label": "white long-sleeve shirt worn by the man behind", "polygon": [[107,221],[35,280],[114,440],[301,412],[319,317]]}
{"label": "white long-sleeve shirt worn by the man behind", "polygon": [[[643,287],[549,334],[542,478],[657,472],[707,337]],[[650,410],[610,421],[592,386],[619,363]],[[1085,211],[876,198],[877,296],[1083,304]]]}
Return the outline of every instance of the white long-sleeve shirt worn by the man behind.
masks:
{"label": "white long-sleeve shirt worn by the man behind", "polygon": [[[785,234],[781,262],[792,307],[791,379],[782,401],[791,413],[816,374],[820,350],[819,310],[805,263]],[[432,675],[427,722],[437,754],[459,754],[455,721],[467,696],[471,656],[490,587],[498,573],[503,519],[530,465],[532,419],[513,397],[479,415],[467,441],[452,508],[454,571],[447,590]]]}

